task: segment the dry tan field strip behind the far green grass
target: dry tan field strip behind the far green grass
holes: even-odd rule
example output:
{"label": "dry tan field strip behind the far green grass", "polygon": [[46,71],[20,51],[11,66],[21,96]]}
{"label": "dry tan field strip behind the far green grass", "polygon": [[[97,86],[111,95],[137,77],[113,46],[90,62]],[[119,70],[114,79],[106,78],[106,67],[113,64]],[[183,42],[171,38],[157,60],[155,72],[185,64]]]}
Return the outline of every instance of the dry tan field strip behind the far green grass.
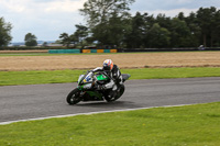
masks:
{"label": "dry tan field strip behind the far green grass", "polygon": [[78,55],[0,54],[0,71],[90,69],[111,58],[120,68],[220,67],[220,52],[118,53]]}

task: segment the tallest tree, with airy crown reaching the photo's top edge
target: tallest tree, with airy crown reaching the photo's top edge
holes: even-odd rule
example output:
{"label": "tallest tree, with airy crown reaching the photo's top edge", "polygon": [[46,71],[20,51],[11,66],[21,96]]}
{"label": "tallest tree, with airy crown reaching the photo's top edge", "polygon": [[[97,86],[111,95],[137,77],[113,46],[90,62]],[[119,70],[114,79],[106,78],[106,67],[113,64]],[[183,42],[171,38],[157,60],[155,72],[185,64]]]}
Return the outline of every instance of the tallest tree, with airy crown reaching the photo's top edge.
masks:
{"label": "tallest tree, with airy crown reaching the photo's top edge", "polygon": [[[120,45],[123,33],[128,29],[127,20],[130,19],[129,5],[135,0],[87,0],[82,15],[94,38],[100,44]],[[118,34],[116,32],[118,31]],[[122,34],[120,34],[122,33]]]}

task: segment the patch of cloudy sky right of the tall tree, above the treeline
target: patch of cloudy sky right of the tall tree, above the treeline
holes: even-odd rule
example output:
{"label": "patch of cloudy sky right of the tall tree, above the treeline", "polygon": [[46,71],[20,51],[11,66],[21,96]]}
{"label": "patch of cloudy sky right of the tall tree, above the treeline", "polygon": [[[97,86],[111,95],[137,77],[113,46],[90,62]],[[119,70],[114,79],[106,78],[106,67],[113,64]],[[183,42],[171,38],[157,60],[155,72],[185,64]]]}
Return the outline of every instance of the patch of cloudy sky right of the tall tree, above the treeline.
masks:
{"label": "patch of cloudy sky right of the tall tree, above the treeline", "polygon": [[167,16],[176,16],[179,12],[188,15],[190,12],[198,11],[199,8],[216,7],[220,9],[219,0],[136,0],[131,5],[132,14],[138,11],[141,13],[157,15],[164,13]]}

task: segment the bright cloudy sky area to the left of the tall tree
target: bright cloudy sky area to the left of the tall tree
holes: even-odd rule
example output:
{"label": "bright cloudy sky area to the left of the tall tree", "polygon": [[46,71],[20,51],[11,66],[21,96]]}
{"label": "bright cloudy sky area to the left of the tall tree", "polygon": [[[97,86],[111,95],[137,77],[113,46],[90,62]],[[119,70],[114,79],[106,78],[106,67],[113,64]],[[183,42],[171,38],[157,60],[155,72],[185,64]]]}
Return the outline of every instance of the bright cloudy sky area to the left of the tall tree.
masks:
{"label": "bright cloudy sky area to the left of the tall tree", "polygon": [[13,25],[13,42],[26,33],[38,40],[58,40],[61,33],[73,33],[82,22],[78,9],[86,0],[0,0],[0,18]]}

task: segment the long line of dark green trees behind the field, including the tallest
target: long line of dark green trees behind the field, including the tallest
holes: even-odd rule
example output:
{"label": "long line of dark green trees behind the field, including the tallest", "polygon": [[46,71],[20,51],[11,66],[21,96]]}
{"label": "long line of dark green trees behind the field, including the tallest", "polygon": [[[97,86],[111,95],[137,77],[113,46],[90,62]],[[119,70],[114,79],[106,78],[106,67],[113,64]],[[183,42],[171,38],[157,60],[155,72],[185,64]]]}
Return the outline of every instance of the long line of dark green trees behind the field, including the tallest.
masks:
{"label": "long line of dark green trees behind the field, including the tallest", "polygon": [[[61,34],[63,43],[125,48],[173,48],[173,47],[218,47],[220,46],[220,10],[215,7],[199,8],[185,15],[179,12],[170,18],[165,14],[129,13],[132,0],[121,3],[99,3],[88,0],[80,10],[87,24],[76,25],[76,32]],[[121,5],[120,5],[121,4]],[[119,10],[120,9],[120,10]]]}

